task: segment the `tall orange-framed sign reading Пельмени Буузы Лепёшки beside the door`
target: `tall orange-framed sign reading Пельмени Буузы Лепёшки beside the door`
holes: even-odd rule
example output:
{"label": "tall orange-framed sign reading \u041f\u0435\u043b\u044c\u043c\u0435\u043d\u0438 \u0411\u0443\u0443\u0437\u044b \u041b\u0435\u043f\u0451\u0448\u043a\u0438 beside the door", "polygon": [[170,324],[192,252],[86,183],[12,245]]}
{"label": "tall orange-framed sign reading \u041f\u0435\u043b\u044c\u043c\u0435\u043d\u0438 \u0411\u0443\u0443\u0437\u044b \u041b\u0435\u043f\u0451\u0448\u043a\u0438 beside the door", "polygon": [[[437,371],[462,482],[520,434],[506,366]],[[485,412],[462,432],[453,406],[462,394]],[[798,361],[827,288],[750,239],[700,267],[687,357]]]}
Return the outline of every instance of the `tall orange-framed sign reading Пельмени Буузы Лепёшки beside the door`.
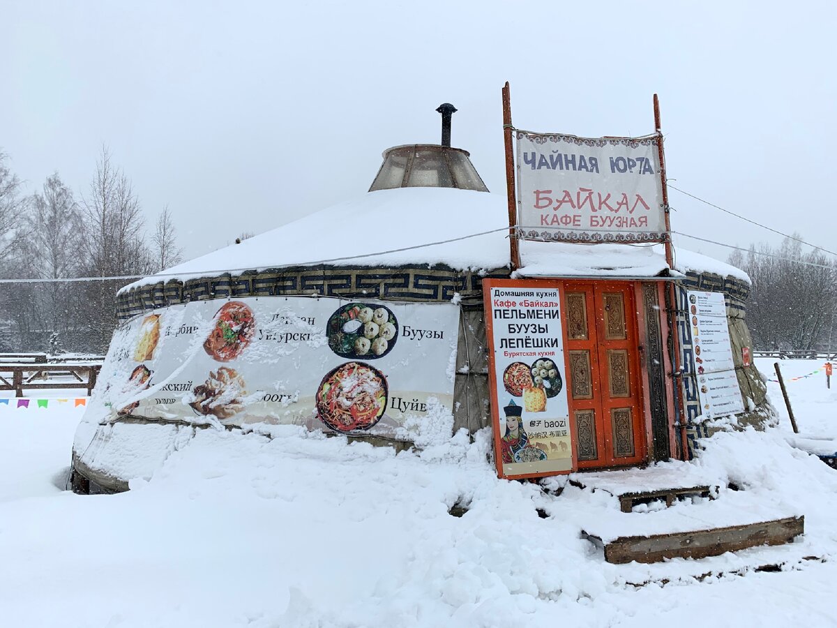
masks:
{"label": "tall orange-framed sign reading \u041f\u0435\u043b\u044c\u043c\u0435\u043d\u0438 \u0411\u0443\u0443\u0437\u044b \u041b\u0435\u043f\u0451\u0448\u043a\u0438 beside the door", "polygon": [[561,298],[554,282],[485,280],[497,474],[573,470]]}

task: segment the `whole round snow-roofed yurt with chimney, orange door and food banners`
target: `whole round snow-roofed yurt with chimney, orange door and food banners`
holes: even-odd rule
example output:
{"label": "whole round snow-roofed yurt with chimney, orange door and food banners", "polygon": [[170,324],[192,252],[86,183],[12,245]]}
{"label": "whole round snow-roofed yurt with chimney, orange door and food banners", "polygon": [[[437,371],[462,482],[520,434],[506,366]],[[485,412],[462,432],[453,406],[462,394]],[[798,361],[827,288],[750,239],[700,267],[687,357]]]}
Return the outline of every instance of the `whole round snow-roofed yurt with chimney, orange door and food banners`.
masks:
{"label": "whole round snow-roofed yurt with chimney, orange door and food banners", "polygon": [[772,420],[747,275],[619,241],[521,239],[513,264],[506,191],[449,136],[385,151],[357,198],[120,291],[74,490],[125,491],[206,429],[400,450],[491,428],[498,471],[537,476],[688,459],[717,425]]}

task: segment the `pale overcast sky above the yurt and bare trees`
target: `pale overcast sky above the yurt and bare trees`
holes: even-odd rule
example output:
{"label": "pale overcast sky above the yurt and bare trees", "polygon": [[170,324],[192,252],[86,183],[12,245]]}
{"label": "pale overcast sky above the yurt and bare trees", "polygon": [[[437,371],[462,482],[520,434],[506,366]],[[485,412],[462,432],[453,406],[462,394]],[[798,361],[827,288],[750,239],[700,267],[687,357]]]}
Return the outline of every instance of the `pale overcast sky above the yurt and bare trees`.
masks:
{"label": "pale overcast sky above the yurt and bare trees", "polygon": [[[835,6],[0,0],[0,150],[27,193],[57,170],[78,196],[105,144],[194,257],[365,193],[385,148],[439,142],[442,102],[504,193],[506,80],[515,126],[581,136],[653,131],[657,92],[674,185],[837,250]],[[670,204],[677,231],[778,242]]]}

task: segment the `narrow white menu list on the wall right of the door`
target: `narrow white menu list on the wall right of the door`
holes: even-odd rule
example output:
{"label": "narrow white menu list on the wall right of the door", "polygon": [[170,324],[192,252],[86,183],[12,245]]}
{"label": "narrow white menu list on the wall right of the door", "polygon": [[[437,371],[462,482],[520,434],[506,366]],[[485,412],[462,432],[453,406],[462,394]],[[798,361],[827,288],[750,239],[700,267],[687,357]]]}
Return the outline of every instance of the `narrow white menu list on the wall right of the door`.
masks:
{"label": "narrow white menu list on the wall right of the door", "polygon": [[712,419],[743,412],[723,293],[688,291],[688,295],[692,360],[701,414]]}

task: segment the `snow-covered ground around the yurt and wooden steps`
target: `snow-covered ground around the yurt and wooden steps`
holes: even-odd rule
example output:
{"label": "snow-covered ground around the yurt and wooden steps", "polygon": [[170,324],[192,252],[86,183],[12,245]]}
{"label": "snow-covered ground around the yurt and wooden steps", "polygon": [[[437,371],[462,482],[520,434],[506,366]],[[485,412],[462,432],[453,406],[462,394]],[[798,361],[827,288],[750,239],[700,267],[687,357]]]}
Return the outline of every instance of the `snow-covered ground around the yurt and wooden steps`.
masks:
{"label": "snow-covered ground around the yurt and wooden steps", "polygon": [[[758,366],[774,377],[772,361]],[[782,368],[789,379],[821,363]],[[806,442],[837,436],[837,386],[818,375],[788,381]],[[291,426],[272,440],[203,430],[131,492],[76,496],[62,489],[82,408],[63,396],[0,404],[0,625],[837,625],[837,471],[788,445],[785,418],[658,466],[716,481],[716,501],[624,514],[604,492],[497,480],[485,433],[396,456]],[[580,538],[723,521],[736,503],[804,514],[806,533],[654,565],[607,564]],[[754,570],[764,564],[783,571]]]}

